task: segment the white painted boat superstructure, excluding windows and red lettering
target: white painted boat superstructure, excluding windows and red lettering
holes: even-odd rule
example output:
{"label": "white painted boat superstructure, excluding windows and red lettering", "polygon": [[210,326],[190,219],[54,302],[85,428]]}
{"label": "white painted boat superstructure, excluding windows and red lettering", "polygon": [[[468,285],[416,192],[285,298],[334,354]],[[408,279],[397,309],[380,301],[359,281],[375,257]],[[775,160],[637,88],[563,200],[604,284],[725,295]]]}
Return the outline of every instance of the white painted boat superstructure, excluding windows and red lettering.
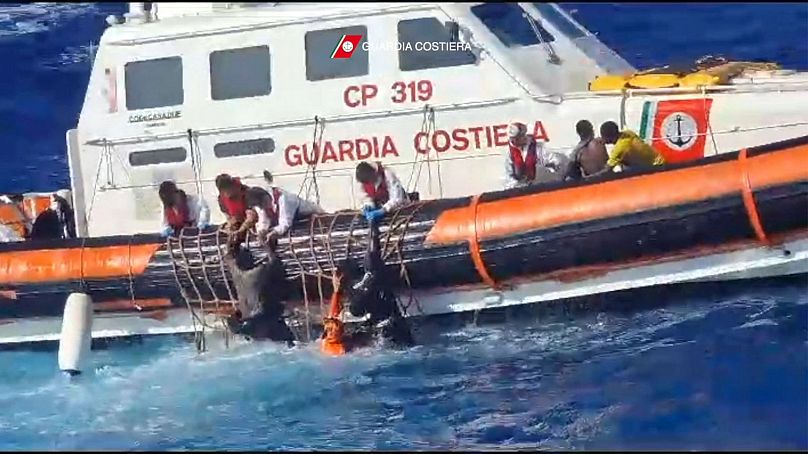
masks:
{"label": "white painted boat superstructure, excluding windows and red lettering", "polygon": [[[325,120],[323,147],[330,142],[338,149],[340,142],[355,145],[358,139],[366,139],[379,141],[382,148],[384,138],[389,137],[395,152],[371,159],[379,159],[394,169],[407,189],[417,190],[422,199],[501,189],[501,175],[493,169],[502,166],[506,147],[489,140],[488,135],[494,131],[473,132],[471,128],[491,128],[514,120],[528,124],[531,132],[541,121],[549,139],[547,148],[568,153],[578,141],[575,123],[580,119],[590,120],[597,128],[607,120],[619,122],[623,113],[627,127],[639,132],[646,101],[709,97],[713,105],[707,156],[808,134],[808,111],[801,107],[808,105],[808,78],[804,73],[749,79],[704,93],[631,90],[625,99],[620,93],[591,93],[586,86],[595,76],[607,73],[609,68],[630,68],[594,35],[586,32],[582,38],[566,39],[552,22],[542,20],[555,36],[554,49],[562,59],[561,65],[552,65],[546,61],[541,45],[504,46],[471,13],[474,4],[264,3],[247,8],[222,4],[214,9],[200,6],[203,4],[187,5],[183,8],[188,11],[181,13],[177,9],[177,15],[157,22],[110,27],[101,39],[70,160],[71,168],[78,168],[71,172],[74,193],[82,198],[76,201],[77,215],[89,218],[86,224],[90,236],[153,232],[160,209],[157,186],[164,179],[174,179],[186,191],[195,192],[190,155],[182,163],[141,167],[131,167],[127,159],[133,151],[187,148],[189,128],[198,134],[195,145],[201,162],[202,195],[211,206],[215,206],[213,179],[217,174],[226,172],[242,176],[247,184],[261,184],[264,169],[273,173],[278,185],[313,200],[313,192],[304,189],[304,183],[308,185],[311,180],[305,179],[307,166],[298,165],[298,150],[304,144],[312,147],[315,116]],[[523,6],[533,16],[540,16],[532,5]],[[371,52],[368,75],[316,82],[306,79],[306,32],[364,25],[374,41],[395,42],[399,20],[422,17],[456,21],[462,42],[481,49],[479,62],[400,71],[397,52],[379,50]],[[257,45],[270,49],[270,94],[212,100],[210,53]],[[601,60],[587,56],[587,52],[593,54],[593,46],[603,50],[597,53]],[[183,104],[127,111],[125,65],[170,56],[182,57]],[[112,70],[117,93],[113,112],[106,97],[110,92],[107,69]],[[421,80],[432,83],[434,95],[428,101],[392,101],[395,82]],[[345,90],[363,84],[376,85],[377,97],[364,106],[347,106]],[[444,152],[422,148],[428,152],[429,163],[424,162],[427,155],[415,148],[427,104],[435,112],[434,130],[445,131],[452,139],[451,147]],[[181,116],[153,122],[129,121],[134,115],[172,111],[179,111]],[[453,135],[461,130],[458,134],[464,135],[470,146],[458,151],[454,146],[462,148],[463,141]],[[274,153],[231,158],[217,158],[213,153],[218,143],[263,137],[275,141]],[[437,137],[442,147],[443,136],[430,133],[430,137]],[[108,155],[102,145],[104,140]],[[106,159],[102,159],[104,156]],[[328,160],[317,165],[319,202],[324,209],[359,207],[352,188],[355,164],[346,157],[344,161]],[[105,172],[96,180],[99,165],[109,168],[112,181],[107,181]],[[213,222],[223,222],[218,210],[212,214]],[[121,222],[105,222],[110,218]],[[84,220],[77,224],[83,225]]]}

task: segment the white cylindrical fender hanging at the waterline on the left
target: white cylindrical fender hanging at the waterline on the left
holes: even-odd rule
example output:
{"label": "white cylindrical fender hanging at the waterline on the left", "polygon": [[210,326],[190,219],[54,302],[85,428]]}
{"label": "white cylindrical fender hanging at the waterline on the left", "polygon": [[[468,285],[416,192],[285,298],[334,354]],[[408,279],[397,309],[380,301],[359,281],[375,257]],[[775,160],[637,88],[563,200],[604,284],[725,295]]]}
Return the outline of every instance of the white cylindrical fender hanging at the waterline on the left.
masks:
{"label": "white cylindrical fender hanging at the waterline on the left", "polygon": [[59,337],[59,370],[71,376],[81,373],[90,356],[93,334],[93,300],[86,293],[71,293],[65,302]]}

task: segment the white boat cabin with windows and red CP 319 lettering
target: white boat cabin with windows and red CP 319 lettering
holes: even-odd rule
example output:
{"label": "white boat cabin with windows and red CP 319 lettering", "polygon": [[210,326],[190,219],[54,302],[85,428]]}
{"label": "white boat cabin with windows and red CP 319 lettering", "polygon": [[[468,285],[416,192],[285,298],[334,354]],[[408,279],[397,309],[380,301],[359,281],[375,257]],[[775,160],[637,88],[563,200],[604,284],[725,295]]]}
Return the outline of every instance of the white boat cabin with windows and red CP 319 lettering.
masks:
{"label": "white boat cabin with windows and red CP 319 lettering", "polygon": [[156,232],[169,179],[222,221],[220,173],[269,170],[326,210],[357,206],[363,160],[422,199],[498,190],[511,121],[568,152],[582,115],[643,115],[588,92],[634,68],[554,4],[154,2],[107,22],[67,133],[80,235]]}

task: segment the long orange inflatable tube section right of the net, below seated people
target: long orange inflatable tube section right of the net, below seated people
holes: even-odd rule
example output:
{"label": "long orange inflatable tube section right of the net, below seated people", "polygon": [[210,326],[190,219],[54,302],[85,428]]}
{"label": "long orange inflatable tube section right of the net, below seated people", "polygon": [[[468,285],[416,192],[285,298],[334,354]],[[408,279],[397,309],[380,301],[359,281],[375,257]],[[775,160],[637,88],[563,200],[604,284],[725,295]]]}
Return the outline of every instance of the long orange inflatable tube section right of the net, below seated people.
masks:
{"label": "long orange inflatable tube section right of the net, below seated people", "polygon": [[741,197],[768,186],[808,181],[806,163],[808,145],[798,145],[755,157],[742,153],[732,161],[472,203],[441,213],[426,243],[478,242],[733,193]]}

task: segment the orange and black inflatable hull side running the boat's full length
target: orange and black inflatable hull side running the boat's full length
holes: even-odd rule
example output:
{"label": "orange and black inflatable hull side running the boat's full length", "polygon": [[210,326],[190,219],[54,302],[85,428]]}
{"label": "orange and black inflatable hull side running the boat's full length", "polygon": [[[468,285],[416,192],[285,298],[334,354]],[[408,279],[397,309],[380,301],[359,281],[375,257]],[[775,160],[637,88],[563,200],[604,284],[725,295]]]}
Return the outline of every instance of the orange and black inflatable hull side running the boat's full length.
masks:
{"label": "orange and black inflatable hull side running the boat's full length", "polygon": [[[416,312],[406,308],[409,316],[803,273],[805,162],[808,136],[645,172],[417,203],[385,219],[385,263],[401,295],[423,300]],[[311,309],[328,298],[332,270],[361,263],[367,240],[355,211],[298,223],[279,248],[294,284],[287,305],[319,320]],[[230,307],[224,241],[190,229],[168,241],[0,245],[0,317],[59,316],[71,292],[89,293],[107,313],[144,315],[189,301]]]}

